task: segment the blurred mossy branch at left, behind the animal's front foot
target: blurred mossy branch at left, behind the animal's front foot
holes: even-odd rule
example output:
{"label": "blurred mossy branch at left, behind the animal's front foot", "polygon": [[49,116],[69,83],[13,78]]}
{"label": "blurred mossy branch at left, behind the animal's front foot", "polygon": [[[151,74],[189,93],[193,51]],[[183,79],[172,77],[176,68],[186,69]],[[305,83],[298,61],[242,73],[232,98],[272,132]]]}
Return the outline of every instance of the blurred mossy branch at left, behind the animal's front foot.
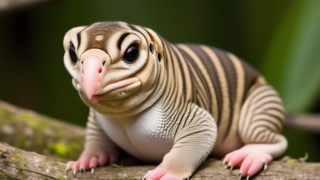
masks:
{"label": "blurred mossy branch at left, behind the animal's front foot", "polygon": [[84,140],[83,127],[0,101],[1,142],[49,157],[69,160],[79,157]]}

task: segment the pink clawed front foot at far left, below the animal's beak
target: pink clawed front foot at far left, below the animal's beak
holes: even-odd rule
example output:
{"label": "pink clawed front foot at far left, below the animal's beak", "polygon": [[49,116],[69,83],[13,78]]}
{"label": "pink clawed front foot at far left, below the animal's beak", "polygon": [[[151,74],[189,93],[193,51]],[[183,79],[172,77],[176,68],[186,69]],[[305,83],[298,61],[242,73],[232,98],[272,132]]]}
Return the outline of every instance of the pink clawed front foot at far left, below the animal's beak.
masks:
{"label": "pink clawed front foot at far left, below the animal's beak", "polygon": [[73,176],[77,174],[79,171],[85,172],[91,170],[91,173],[95,173],[95,168],[98,166],[105,166],[107,162],[113,164],[117,161],[117,156],[114,154],[107,154],[105,152],[101,152],[97,155],[93,156],[82,156],[78,161],[68,162],[65,166],[65,174],[72,170]]}

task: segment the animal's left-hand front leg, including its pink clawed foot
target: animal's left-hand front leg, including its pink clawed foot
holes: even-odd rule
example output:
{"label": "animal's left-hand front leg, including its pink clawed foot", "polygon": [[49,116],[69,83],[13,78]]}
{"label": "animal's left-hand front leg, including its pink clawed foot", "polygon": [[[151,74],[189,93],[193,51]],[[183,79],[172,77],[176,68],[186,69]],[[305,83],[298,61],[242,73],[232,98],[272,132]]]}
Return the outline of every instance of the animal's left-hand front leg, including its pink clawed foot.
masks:
{"label": "animal's left-hand front leg, including its pink clawed foot", "polygon": [[65,171],[78,171],[91,169],[92,173],[97,166],[104,166],[108,162],[114,164],[118,159],[118,147],[97,122],[94,110],[90,109],[85,133],[85,149],[78,161],[68,162]]}

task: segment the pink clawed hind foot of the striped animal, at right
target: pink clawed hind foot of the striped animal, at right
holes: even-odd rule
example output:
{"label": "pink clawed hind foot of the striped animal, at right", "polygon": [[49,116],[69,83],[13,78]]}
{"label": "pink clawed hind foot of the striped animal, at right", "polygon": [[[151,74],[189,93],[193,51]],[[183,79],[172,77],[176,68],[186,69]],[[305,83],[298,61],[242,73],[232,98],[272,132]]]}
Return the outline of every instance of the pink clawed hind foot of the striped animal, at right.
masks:
{"label": "pink clawed hind foot of the striped animal, at right", "polygon": [[240,166],[239,179],[257,174],[262,168],[267,169],[267,164],[272,161],[272,156],[265,152],[250,152],[245,149],[238,149],[227,154],[223,160],[223,165],[230,167],[230,172],[234,166]]}

